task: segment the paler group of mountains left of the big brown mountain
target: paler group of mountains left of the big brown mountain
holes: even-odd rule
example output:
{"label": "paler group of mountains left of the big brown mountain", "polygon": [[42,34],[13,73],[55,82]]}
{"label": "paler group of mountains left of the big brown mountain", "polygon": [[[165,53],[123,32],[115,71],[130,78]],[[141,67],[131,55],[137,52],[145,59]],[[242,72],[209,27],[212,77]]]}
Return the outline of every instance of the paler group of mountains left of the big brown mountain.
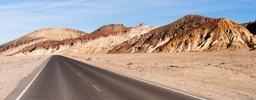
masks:
{"label": "paler group of mountains left of the big brown mountain", "polygon": [[[122,24],[109,24],[100,27],[90,34],[69,28],[41,29],[1,45],[2,51],[0,55],[97,53],[92,48],[96,48],[98,51],[101,50],[101,53],[104,53],[108,52],[110,48],[112,49],[112,45],[120,44],[135,35],[144,34],[155,28],[158,27],[147,26],[144,23],[134,28],[127,28]],[[16,42],[21,43],[17,46]],[[88,53],[84,50],[87,50]]]}

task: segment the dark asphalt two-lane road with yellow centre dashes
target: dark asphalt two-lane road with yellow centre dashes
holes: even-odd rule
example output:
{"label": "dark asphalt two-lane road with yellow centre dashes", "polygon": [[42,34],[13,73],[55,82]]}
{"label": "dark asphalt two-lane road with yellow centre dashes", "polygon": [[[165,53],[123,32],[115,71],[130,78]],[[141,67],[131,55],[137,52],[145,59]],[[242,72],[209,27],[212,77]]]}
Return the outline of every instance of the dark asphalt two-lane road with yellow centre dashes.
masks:
{"label": "dark asphalt two-lane road with yellow centre dashes", "polygon": [[14,94],[20,95],[20,100],[200,100],[204,98],[177,92],[61,55],[53,55],[38,73],[29,86],[25,85],[27,90],[23,89],[25,87],[20,87],[23,93],[11,93],[6,100],[14,97],[12,96]]}

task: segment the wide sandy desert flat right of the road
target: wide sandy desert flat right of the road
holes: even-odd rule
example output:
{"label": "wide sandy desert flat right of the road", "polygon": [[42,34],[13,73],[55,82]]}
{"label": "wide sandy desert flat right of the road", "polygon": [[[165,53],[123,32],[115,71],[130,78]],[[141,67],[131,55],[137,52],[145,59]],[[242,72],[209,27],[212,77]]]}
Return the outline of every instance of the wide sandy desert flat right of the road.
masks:
{"label": "wide sandy desert flat right of the road", "polygon": [[68,55],[216,100],[256,100],[256,51]]}

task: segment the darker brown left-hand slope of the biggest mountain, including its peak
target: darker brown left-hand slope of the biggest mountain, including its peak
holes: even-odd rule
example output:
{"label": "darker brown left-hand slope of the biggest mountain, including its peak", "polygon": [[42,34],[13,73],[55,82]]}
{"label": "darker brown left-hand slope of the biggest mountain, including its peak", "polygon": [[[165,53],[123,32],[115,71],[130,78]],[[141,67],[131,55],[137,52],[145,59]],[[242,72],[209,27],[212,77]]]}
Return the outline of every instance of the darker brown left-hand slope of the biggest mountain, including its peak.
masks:
{"label": "darker brown left-hand slope of the biggest mountain, including its peak", "polygon": [[200,15],[187,15],[171,24],[127,40],[114,47],[114,49],[108,53],[152,52],[175,35],[213,19],[214,18],[207,18]]}

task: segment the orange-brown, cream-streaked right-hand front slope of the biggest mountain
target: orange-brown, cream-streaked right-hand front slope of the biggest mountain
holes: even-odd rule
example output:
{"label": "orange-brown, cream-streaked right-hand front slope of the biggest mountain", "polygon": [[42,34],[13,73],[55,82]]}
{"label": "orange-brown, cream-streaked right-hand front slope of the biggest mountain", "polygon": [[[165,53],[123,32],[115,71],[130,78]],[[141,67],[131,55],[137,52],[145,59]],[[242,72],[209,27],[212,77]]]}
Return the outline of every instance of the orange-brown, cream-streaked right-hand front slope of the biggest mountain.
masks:
{"label": "orange-brown, cream-streaked right-hand front slope of the biggest mountain", "polygon": [[255,35],[233,20],[219,18],[176,35],[154,52],[249,50],[254,47]]}

